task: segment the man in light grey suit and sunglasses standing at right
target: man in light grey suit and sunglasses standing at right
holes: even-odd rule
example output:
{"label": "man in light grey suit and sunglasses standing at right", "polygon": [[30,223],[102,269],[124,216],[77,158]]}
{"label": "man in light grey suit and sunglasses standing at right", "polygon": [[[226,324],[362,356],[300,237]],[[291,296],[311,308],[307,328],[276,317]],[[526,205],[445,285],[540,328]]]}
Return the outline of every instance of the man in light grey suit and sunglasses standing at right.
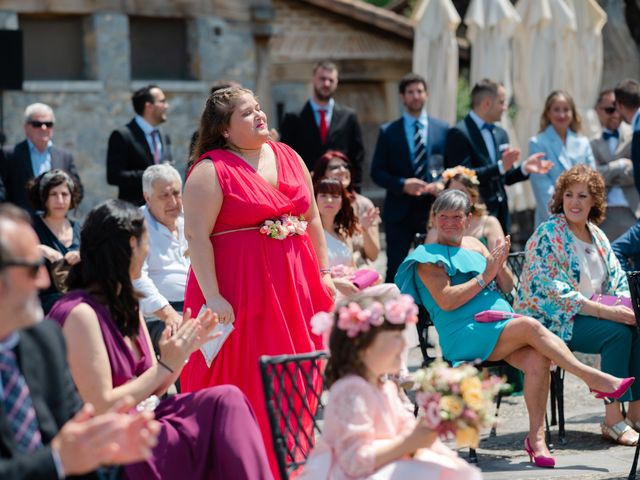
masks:
{"label": "man in light grey suit and sunglasses standing at right", "polygon": [[591,140],[591,149],[607,186],[607,213],[600,227],[613,241],[636,223],[639,197],[631,163],[633,132],[628,124],[622,123],[613,90],[600,92],[596,113],[602,135]]}

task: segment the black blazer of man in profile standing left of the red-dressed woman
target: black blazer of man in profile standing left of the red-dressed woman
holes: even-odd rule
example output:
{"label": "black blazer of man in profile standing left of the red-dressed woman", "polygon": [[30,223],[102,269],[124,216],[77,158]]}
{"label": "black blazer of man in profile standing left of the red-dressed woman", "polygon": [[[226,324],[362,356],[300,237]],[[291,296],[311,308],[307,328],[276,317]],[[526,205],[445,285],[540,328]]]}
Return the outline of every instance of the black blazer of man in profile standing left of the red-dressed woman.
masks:
{"label": "black blazer of man in profile standing left of the red-dressed woman", "polygon": [[[161,135],[162,161],[172,163],[171,139]],[[153,153],[138,122],[111,132],[107,147],[107,183],[118,187],[118,198],[143,205],[142,174],[153,165]]]}

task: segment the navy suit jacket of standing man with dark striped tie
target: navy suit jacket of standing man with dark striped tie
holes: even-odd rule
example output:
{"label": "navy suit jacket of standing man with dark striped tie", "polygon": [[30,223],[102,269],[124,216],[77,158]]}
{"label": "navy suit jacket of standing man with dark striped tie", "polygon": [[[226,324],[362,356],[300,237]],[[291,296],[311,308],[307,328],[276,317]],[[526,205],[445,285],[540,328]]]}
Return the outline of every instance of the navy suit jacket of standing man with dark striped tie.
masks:
{"label": "navy suit jacket of standing man with dark striped tie", "polygon": [[[437,118],[428,117],[428,119],[427,162],[430,162],[435,156],[444,157],[449,125]],[[414,197],[404,193],[402,189],[404,180],[412,177],[415,177],[415,169],[407,144],[404,119],[400,117],[380,127],[371,163],[371,178],[387,190],[383,211],[386,222],[402,222],[408,216],[415,214],[424,215],[426,222],[434,197],[432,195]],[[426,169],[422,180],[431,182],[429,168]]]}

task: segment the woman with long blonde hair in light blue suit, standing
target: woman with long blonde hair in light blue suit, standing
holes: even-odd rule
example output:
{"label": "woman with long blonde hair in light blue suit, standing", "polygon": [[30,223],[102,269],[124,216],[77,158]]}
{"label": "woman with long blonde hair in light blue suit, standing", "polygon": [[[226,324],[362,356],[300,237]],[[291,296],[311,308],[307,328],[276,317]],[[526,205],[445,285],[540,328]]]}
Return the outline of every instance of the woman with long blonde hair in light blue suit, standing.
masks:
{"label": "woman with long blonde hair in light blue suit, standing", "polygon": [[581,131],[582,119],[571,95],[563,90],[551,92],[540,116],[540,131],[529,140],[529,155],[544,153],[553,163],[547,173],[531,176],[536,226],[549,218],[549,201],[562,172],[579,164],[596,167],[589,139]]}

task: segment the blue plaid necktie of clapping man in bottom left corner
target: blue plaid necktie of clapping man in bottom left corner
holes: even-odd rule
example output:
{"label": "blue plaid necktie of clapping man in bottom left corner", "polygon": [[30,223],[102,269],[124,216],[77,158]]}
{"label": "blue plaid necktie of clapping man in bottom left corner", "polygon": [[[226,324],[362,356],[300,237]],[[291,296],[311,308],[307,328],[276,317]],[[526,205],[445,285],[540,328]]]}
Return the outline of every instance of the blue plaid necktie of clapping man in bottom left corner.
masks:
{"label": "blue plaid necktie of clapping man in bottom left corner", "polygon": [[29,387],[20,373],[16,355],[11,350],[0,352],[2,404],[18,450],[30,453],[42,446],[38,418],[33,408]]}

